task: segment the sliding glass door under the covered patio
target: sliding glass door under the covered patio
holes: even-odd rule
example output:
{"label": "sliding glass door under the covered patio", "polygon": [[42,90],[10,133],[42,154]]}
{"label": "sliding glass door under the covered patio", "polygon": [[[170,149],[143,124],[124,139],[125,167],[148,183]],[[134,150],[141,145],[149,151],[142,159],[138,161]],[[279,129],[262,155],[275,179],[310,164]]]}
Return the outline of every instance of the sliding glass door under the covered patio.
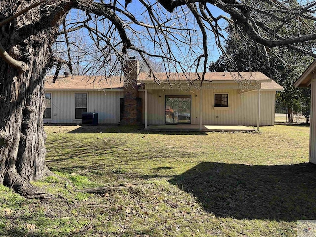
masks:
{"label": "sliding glass door under the covered patio", "polygon": [[191,95],[166,95],[165,123],[191,123]]}

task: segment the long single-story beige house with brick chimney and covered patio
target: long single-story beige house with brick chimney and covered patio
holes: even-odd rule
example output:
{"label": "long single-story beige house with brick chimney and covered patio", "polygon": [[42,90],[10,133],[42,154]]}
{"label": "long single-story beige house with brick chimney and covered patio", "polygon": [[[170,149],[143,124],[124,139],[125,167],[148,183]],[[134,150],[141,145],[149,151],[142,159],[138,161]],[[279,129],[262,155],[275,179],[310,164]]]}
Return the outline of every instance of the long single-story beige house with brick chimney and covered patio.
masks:
{"label": "long single-story beige house with brick chimney and covered patio", "polygon": [[[81,123],[97,112],[99,124],[274,125],[275,94],[283,90],[260,72],[159,73],[154,81],[138,72],[137,60],[119,76],[47,78],[46,123]],[[104,79],[104,80],[102,80]]]}

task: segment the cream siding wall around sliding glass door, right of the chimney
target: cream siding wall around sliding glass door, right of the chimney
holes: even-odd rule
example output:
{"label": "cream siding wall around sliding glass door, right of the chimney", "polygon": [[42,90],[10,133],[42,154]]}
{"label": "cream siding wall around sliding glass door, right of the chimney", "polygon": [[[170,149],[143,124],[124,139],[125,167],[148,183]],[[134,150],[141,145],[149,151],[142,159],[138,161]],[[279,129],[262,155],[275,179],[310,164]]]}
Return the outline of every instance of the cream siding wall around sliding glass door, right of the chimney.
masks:
{"label": "cream siding wall around sliding glass door, right of the chimney", "polygon": [[[204,125],[256,125],[257,91],[239,94],[233,89],[203,90],[203,124]],[[229,108],[214,109],[214,94],[228,93]],[[199,124],[199,92],[191,90],[186,93],[180,90],[151,90],[148,93],[148,124],[164,123],[165,95],[191,95],[191,124]],[[275,91],[261,91],[260,125],[274,125]],[[143,93],[141,93],[143,98]],[[144,106],[143,99],[143,106]],[[144,112],[145,110],[143,110]],[[218,118],[217,118],[218,117]],[[143,116],[144,119],[144,116]]]}

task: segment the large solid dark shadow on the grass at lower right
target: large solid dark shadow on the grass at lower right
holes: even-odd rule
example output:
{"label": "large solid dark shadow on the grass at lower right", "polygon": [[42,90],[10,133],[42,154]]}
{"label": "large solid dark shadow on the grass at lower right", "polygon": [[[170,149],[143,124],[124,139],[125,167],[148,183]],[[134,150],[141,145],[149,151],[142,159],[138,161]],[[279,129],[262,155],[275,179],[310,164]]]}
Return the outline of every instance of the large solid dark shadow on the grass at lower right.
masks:
{"label": "large solid dark shadow on the grass at lower right", "polygon": [[316,219],[316,165],[202,162],[169,180],[205,211],[236,219]]}

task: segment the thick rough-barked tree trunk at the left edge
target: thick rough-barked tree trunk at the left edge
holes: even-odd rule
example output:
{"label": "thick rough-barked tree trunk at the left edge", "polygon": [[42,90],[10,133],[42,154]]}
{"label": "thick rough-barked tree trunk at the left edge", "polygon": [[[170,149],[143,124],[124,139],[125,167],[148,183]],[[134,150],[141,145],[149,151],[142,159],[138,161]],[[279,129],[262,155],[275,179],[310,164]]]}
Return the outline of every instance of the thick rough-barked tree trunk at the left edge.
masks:
{"label": "thick rough-barked tree trunk at the left edge", "polygon": [[[11,10],[31,4],[16,2],[1,0],[0,21],[14,14]],[[40,7],[35,7],[0,32],[3,48],[28,68],[24,72],[15,69],[0,57],[0,183],[24,196],[43,193],[29,181],[42,179],[48,172],[43,130],[44,77],[51,63],[50,45],[69,9],[65,6],[45,16],[41,16],[45,12]]]}

